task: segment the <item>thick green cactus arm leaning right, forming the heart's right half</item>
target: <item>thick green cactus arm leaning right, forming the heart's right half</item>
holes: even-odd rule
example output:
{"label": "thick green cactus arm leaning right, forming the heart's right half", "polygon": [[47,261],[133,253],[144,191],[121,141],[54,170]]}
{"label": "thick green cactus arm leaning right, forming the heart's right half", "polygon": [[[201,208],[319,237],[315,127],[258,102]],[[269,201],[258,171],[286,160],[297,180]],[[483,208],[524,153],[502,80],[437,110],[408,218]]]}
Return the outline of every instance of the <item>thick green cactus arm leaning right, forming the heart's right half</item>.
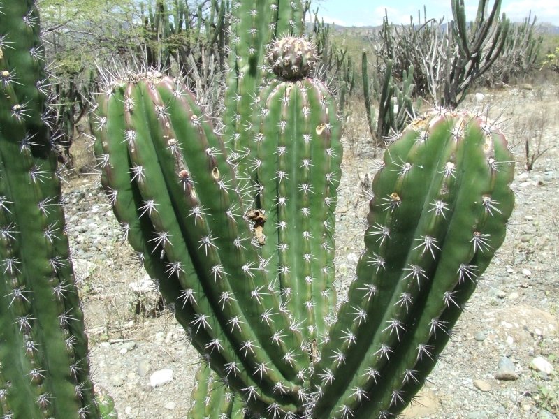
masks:
{"label": "thick green cactus arm leaning right, forming the heart's right half", "polygon": [[[426,127],[429,135],[421,140]],[[508,187],[513,163],[506,142],[498,133],[486,136],[483,130],[487,129],[471,115],[437,116],[425,125],[418,122],[385,154],[386,167],[373,182],[375,198],[370,204],[370,229],[358,279],[351,285],[349,302],[340,310],[338,324],[324,348],[324,358],[343,351],[345,363],[330,369],[333,381],[322,383],[315,417],[341,417],[347,409],[356,418],[376,417],[381,411],[395,413],[419,390],[419,385],[409,381],[423,382],[430,368],[418,362],[418,348],[430,348],[423,353],[426,359],[435,359],[442,350],[448,339],[442,336],[449,334],[463,307],[460,304],[473,291],[462,291],[465,279],[474,283],[486,268],[504,239],[514,202]],[[456,139],[451,132],[457,133]],[[493,147],[500,151],[494,153]],[[441,148],[440,157],[433,160],[431,156]],[[502,160],[491,163],[493,158]],[[454,177],[445,169],[455,167],[447,166],[448,161],[456,165]],[[412,166],[407,169],[405,163]],[[394,200],[393,193],[400,200]],[[406,200],[418,214],[406,210]],[[435,207],[437,201],[445,203],[440,210]],[[485,226],[491,233],[486,233]],[[410,236],[409,231],[414,230]],[[393,247],[392,240],[402,247]],[[475,268],[468,268],[474,263]],[[375,286],[375,293],[368,293],[368,284]],[[456,300],[458,296],[460,300]],[[460,309],[450,308],[455,304]],[[351,328],[359,308],[367,313],[367,329],[376,331],[370,336]],[[414,320],[416,313],[419,318]],[[353,333],[354,341],[344,330]],[[366,353],[356,362],[361,351]],[[356,372],[349,374],[359,363]],[[322,365],[318,368],[322,368],[321,374],[326,371]],[[333,406],[333,395],[340,389],[347,390]],[[329,407],[323,411],[323,406]]]}

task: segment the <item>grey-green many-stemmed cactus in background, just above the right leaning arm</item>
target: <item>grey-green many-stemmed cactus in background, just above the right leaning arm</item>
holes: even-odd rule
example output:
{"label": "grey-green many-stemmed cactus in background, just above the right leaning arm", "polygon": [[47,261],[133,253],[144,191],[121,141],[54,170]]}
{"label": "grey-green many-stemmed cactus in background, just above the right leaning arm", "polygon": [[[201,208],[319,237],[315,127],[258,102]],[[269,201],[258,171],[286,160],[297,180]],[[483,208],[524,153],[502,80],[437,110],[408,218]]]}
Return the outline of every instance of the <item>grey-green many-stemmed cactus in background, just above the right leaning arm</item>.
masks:
{"label": "grey-green many-stemmed cactus in background, just above the right leaning arm", "polygon": [[396,74],[413,65],[417,94],[435,105],[456,108],[504,51],[510,22],[504,14],[499,17],[500,5],[495,0],[487,14],[488,1],[479,0],[476,20],[467,24],[464,1],[452,0],[453,20],[445,30],[442,20],[425,18],[417,25],[410,18],[398,31],[385,17],[377,54],[393,60]]}

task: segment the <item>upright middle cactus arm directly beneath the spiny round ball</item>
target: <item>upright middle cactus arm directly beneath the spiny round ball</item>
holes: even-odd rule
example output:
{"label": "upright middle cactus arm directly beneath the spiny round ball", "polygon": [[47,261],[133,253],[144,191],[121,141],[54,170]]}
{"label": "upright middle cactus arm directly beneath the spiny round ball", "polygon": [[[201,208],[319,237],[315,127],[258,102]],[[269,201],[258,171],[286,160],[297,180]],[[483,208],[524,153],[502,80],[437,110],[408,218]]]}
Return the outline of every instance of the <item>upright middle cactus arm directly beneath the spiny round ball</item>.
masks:
{"label": "upright middle cactus arm directly beneath the spiny round ball", "polygon": [[311,327],[311,335],[304,332],[308,341],[317,330],[326,332],[324,316],[333,306],[326,302],[333,267],[326,266],[340,177],[334,171],[341,157],[339,123],[333,99],[319,82],[273,83],[261,97],[255,167],[258,207],[267,214],[262,255],[272,258],[277,291],[289,302],[295,323]]}

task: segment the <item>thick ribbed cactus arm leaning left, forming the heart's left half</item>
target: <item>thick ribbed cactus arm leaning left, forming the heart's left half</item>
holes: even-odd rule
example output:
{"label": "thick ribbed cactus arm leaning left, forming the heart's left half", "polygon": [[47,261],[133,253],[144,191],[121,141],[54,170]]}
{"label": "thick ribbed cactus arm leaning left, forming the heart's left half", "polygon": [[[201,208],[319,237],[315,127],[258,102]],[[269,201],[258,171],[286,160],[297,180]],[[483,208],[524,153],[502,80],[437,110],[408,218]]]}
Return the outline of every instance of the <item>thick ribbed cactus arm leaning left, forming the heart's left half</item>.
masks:
{"label": "thick ribbed cactus arm leaning left, forming the heart's left half", "polygon": [[106,93],[96,147],[131,244],[212,368],[256,406],[296,410],[303,381],[291,360],[308,355],[270,293],[221,140],[177,80],[148,73]]}

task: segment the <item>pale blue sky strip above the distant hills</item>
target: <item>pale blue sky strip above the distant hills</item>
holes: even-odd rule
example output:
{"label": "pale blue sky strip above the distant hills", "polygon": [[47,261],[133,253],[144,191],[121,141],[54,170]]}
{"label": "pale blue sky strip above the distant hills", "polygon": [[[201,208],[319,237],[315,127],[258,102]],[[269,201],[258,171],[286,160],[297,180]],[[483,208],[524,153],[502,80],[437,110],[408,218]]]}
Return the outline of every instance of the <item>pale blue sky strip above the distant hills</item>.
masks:
{"label": "pale blue sky strip above the distant hills", "polygon": [[[466,16],[471,20],[477,11],[478,0],[464,0]],[[451,0],[320,0],[313,2],[313,10],[319,7],[319,15],[325,23],[343,26],[377,26],[382,24],[384,9],[388,10],[391,23],[409,23],[409,16],[417,20],[417,10],[427,7],[427,17],[437,20],[445,17],[445,22],[452,16]],[[488,1],[493,7],[493,1]],[[537,22],[551,23],[559,26],[559,0],[502,0],[501,13],[506,13],[512,22],[522,22],[532,10],[537,15]]]}

